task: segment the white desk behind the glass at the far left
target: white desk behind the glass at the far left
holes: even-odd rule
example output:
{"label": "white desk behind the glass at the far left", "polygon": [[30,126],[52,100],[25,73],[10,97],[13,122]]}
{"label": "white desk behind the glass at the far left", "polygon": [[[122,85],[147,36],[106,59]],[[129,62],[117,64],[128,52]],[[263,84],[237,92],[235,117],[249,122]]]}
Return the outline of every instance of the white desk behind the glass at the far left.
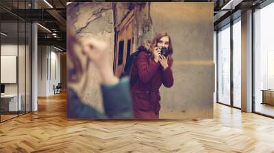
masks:
{"label": "white desk behind the glass at the far left", "polygon": [[[21,94],[18,94],[18,105],[17,105],[17,94],[4,94],[1,95],[1,107],[4,111],[21,111]],[[17,110],[18,108],[18,110]]]}

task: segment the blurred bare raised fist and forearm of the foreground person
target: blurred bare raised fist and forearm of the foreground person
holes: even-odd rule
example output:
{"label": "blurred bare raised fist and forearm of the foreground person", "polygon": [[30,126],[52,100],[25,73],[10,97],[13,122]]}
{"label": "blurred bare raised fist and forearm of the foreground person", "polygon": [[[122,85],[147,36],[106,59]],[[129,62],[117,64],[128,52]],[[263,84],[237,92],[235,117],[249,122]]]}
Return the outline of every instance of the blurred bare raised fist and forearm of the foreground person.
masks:
{"label": "blurred bare raised fist and forearm of the foreground person", "polygon": [[96,38],[86,38],[82,41],[82,53],[88,57],[101,74],[102,83],[115,84],[119,79],[112,72],[110,64],[110,46]]}

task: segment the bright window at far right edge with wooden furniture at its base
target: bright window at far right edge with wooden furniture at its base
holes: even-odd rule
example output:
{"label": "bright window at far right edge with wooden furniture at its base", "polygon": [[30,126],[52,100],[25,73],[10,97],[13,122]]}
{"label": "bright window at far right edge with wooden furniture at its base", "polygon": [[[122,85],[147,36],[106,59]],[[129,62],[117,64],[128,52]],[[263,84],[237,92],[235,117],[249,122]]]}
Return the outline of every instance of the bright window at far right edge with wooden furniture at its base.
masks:
{"label": "bright window at far right edge with wooden furniture at its base", "polygon": [[274,3],[254,12],[253,111],[274,117]]}

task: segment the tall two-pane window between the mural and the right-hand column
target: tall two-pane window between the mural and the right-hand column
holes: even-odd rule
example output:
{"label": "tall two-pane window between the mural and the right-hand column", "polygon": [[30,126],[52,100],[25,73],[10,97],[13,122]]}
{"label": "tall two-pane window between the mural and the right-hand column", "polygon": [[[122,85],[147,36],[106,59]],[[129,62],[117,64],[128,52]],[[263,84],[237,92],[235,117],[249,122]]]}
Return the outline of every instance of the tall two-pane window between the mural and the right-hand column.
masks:
{"label": "tall two-pane window between the mural and the right-hand column", "polygon": [[217,98],[223,105],[240,109],[241,102],[240,17],[217,31]]}

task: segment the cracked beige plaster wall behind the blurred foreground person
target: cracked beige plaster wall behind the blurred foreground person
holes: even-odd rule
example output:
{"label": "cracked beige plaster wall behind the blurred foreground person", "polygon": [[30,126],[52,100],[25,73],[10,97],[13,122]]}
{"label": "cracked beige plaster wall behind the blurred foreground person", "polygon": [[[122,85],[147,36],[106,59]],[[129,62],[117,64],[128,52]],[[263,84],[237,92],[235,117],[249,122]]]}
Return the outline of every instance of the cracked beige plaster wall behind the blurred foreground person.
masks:
{"label": "cracked beige plaster wall behind the blurred foreground person", "polygon": [[[67,8],[67,20],[73,23],[77,37],[92,36],[109,42],[112,47],[110,50],[110,64],[113,64],[114,25],[112,3],[71,3]],[[86,57],[81,55],[79,57],[82,59],[82,64],[86,65]],[[85,77],[88,77],[87,86],[82,92]],[[77,85],[71,85],[71,87],[79,93],[84,102],[103,112],[99,78],[99,73],[95,66],[91,64],[82,81]]]}

